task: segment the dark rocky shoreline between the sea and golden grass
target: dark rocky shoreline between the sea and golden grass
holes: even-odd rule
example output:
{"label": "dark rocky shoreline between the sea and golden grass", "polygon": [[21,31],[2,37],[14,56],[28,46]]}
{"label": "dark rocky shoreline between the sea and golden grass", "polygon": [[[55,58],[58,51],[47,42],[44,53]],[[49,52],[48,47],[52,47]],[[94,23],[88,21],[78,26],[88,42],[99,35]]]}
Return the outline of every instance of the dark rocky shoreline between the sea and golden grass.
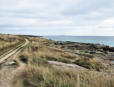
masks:
{"label": "dark rocky shoreline between the sea and golden grass", "polygon": [[97,57],[107,61],[114,61],[114,47],[107,45],[54,40],[49,41],[48,44],[80,56]]}

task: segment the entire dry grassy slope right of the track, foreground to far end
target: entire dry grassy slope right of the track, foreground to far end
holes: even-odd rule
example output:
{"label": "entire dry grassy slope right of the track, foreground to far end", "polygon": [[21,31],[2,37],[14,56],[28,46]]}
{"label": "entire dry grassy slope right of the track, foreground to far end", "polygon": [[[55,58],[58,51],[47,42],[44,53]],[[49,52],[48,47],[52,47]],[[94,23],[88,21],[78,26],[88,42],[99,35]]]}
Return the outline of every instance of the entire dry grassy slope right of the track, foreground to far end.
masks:
{"label": "entire dry grassy slope right of the track, foreground to far end", "polygon": [[[59,48],[46,46],[45,39],[35,37],[29,39],[31,44],[20,55],[20,60],[27,66],[14,78],[14,87],[114,87],[113,72],[77,71],[53,67],[48,64],[48,60],[72,63],[71,60],[80,60],[80,57],[65,53]],[[91,61],[94,64],[97,60]]]}

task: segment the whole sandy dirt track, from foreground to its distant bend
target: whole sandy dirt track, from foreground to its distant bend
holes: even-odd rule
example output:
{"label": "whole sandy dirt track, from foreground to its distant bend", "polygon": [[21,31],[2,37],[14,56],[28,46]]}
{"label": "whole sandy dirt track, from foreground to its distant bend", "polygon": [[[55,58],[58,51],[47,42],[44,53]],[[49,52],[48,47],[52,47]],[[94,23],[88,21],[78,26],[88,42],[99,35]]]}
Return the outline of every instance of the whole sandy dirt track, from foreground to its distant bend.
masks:
{"label": "whole sandy dirt track, from foreground to its distant bend", "polygon": [[[26,40],[25,44],[22,45],[22,47],[26,46],[28,43],[29,43],[29,41]],[[10,54],[3,57],[3,59],[1,59],[1,61],[3,62],[3,60],[5,60],[9,57],[9,60],[7,60],[5,63],[11,62],[12,60],[16,60],[19,64],[19,66],[15,67],[15,66],[11,66],[11,65],[5,65],[5,63],[1,65],[0,87],[11,87],[12,79],[14,78],[14,76],[24,69],[25,65],[17,59],[17,56],[20,53],[20,51],[21,51],[21,49],[20,50],[16,49],[15,51],[11,52]]]}

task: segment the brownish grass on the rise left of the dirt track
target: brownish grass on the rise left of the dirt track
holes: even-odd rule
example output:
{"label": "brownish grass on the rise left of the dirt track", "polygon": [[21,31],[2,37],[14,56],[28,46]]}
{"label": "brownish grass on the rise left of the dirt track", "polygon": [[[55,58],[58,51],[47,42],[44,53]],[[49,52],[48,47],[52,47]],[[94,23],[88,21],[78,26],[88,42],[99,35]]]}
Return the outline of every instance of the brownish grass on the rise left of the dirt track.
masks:
{"label": "brownish grass on the rise left of the dirt track", "polygon": [[24,42],[24,39],[19,36],[0,34],[0,55],[18,46],[22,42]]}

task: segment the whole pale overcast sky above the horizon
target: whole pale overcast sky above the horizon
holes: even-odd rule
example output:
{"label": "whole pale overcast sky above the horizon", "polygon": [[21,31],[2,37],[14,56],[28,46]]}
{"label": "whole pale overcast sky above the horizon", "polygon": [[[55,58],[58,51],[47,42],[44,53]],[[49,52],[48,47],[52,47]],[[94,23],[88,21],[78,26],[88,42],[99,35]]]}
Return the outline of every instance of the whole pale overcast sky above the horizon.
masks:
{"label": "whole pale overcast sky above the horizon", "polygon": [[114,0],[0,0],[0,33],[114,36]]}

